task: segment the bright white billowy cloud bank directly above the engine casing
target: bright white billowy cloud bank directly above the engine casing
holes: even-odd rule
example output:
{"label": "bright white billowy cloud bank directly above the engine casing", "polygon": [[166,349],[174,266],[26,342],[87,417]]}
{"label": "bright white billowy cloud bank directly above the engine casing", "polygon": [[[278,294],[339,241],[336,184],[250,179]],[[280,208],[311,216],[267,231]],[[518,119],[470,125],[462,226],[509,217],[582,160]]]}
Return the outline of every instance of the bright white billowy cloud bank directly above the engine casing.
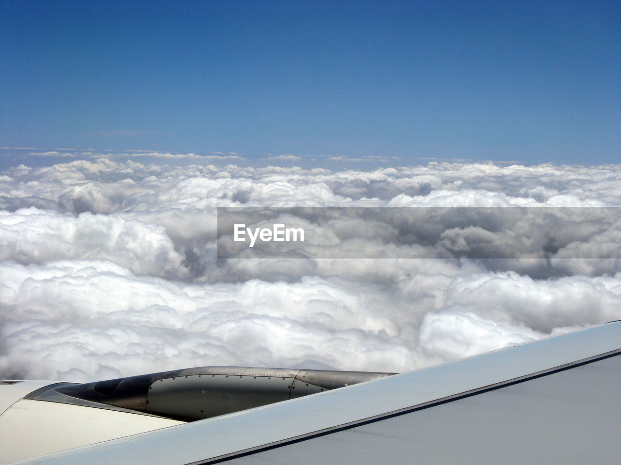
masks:
{"label": "bright white billowy cloud bank directly above the engine casing", "polygon": [[11,311],[0,370],[22,376],[79,370],[73,376],[86,379],[109,367],[140,373],[164,368],[164,360],[170,368],[307,360],[340,366],[343,359],[381,366],[395,357],[404,362],[409,352],[376,334],[384,317],[353,312],[360,299],[319,278],[198,286],[93,260],[5,262],[0,276],[0,304]]}

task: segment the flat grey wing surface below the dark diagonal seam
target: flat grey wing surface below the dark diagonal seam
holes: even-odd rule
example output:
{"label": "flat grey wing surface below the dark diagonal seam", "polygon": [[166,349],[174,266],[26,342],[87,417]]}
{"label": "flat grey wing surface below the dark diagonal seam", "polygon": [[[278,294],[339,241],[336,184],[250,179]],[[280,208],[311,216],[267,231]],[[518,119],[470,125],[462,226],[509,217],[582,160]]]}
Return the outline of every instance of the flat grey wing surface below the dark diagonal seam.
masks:
{"label": "flat grey wing surface below the dark diagonal seam", "polygon": [[620,381],[617,355],[225,463],[619,464]]}

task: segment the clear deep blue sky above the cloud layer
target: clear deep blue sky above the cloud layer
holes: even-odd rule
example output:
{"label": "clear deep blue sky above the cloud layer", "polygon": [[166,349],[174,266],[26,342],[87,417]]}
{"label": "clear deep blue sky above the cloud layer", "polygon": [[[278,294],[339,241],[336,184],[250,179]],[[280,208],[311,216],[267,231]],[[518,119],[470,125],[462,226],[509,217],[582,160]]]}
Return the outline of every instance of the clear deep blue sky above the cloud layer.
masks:
{"label": "clear deep blue sky above the cloud layer", "polygon": [[0,146],[621,162],[619,1],[0,4]]}

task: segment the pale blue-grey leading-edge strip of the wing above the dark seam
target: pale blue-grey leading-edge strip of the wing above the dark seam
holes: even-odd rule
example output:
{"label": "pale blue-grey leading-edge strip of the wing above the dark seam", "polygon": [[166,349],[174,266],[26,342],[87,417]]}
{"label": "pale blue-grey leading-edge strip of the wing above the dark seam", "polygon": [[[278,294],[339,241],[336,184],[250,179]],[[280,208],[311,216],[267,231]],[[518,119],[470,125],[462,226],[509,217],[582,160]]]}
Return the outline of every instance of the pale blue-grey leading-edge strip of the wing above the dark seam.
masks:
{"label": "pale blue-grey leading-edge strip of the wing above the dark seam", "polygon": [[[396,374],[378,381],[324,391],[312,396],[265,405],[235,414],[207,418],[179,427],[67,451],[48,458],[34,459],[31,463],[66,465],[89,463],[96,458],[96,462],[100,465],[134,463],[181,465],[201,463],[212,458],[227,458],[235,456],[240,451],[253,451],[265,445],[278,445],[291,438],[314,435],[323,430],[332,430],[339,425],[365,421],[368,418],[383,416],[389,412],[401,411],[412,406],[428,405],[438,400],[462,396],[464,393],[505,383],[507,380],[530,376],[533,373],[541,373],[555,369],[555,367],[573,364],[577,360],[618,350],[620,346],[621,322],[612,322],[453,363]],[[602,368],[600,371],[605,371],[605,369]],[[592,375],[595,376],[597,372],[595,370]],[[582,373],[584,374],[584,371]],[[571,385],[568,386],[565,383],[564,380],[558,383],[562,386],[556,386],[550,392],[550,396],[556,395],[555,389],[569,391]],[[601,384],[605,388],[601,395],[616,396],[618,384],[618,379],[616,379],[612,394],[609,391],[611,386]],[[573,404],[569,402],[574,404],[580,402],[581,396],[582,394],[575,398],[568,398],[566,405],[571,407]],[[532,401],[536,400],[536,397],[529,397],[526,392],[524,397],[524,404],[520,404],[524,408],[528,406],[529,398]],[[512,401],[511,396],[505,397],[506,404],[511,404]],[[533,403],[533,405],[539,404]],[[440,405],[429,411],[432,412],[438,407]],[[600,411],[598,410],[598,413]],[[476,417],[476,409],[473,412]],[[442,421],[438,420],[439,423],[450,425],[451,422],[456,421],[456,418],[440,416]],[[481,423],[488,421],[487,416],[476,419],[476,422]],[[580,422],[581,419],[577,418],[573,421]],[[548,427],[550,424],[562,430],[562,422],[548,423]],[[612,432],[615,436],[619,436],[618,424]],[[459,434],[461,433],[463,432],[460,430]],[[501,434],[500,431],[496,433]],[[362,449],[366,444],[365,438],[371,436],[366,433],[362,434],[364,436],[361,438],[351,438],[347,441],[351,441],[353,447]],[[433,435],[433,438],[428,440],[451,448],[456,434],[457,432],[453,432],[453,436]],[[471,441],[474,439],[471,438]],[[505,445],[504,438],[495,438],[494,443],[484,441],[484,436],[478,436],[478,440],[479,443],[476,446],[481,449],[502,448]],[[590,447],[591,444],[599,445],[597,439],[592,439],[590,435],[583,440],[587,441],[585,447]],[[412,458],[417,457],[416,448],[410,448],[411,446],[410,444],[406,448],[407,455],[403,455],[402,459],[406,458],[411,461]],[[316,448],[313,450],[315,452]],[[457,453],[457,449],[453,451]],[[373,458],[374,463],[383,463],[384,452],[383,447],[370,450],[368,451],[369,459]],[[528,448],[522,451],[522,454],[528,454]],[[291,457],[289,455],[289,461]],[[323,459],[325,461],[325,457]],[[335,463],[333,458],[327,461]],[[316,459],[315,463],[320,463],[320,460]],[[517,459],[515,463],[520,463],[520,459]]]}

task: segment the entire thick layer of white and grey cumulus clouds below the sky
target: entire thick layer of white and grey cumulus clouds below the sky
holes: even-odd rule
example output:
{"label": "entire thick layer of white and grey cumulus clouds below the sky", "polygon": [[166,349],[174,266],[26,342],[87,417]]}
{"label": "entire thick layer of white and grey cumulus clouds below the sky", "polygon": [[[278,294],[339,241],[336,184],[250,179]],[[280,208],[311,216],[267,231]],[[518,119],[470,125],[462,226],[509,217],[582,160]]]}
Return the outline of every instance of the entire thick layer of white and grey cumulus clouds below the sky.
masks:
{"label": "entire thick layer of white and grey cumulus clouds below the sky", "polygon": [[[553,229],[556,248],[540,260],[400,252],[412,246],[407,234],[427,234],[423,252],[502,250],[505,225],[489,218],[447,218],[439,229],[331,219],[324,247],[393,247],[393,259],[357,260],[217,260],[215,224],[219,206],[619,206],[620,166],[329,170],[125,153],[0,173],[0,377],[87,381],[197,365],[404,371],[621,316],[619,260],[592,259],[616,250],[614,215],[605,230],[597,218],[571,230],[516,224],[511,234],[537,247]],[[193,164],[166,164],[177,159]],[[573,241],[580,228],[587,241]]]}

